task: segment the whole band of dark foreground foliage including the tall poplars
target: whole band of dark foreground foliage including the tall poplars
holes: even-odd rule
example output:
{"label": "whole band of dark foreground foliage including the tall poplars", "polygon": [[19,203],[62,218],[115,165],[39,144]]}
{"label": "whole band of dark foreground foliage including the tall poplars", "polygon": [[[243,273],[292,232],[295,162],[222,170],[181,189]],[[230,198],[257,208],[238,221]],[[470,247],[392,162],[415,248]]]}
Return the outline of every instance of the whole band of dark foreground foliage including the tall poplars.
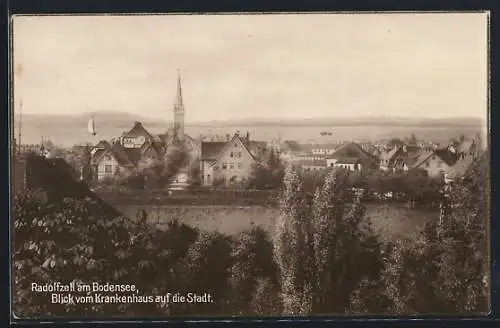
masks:
{"label": "whole band of dark foreground foliage including the tall poplars", "polygon": [[[159,230],[116,217],[90,199],[14,205],[14,303],[20,317],[436,314],[487,312],[485,170],[442,199],[439,222],[418,240],[379,243],[359,195],[332,171],[311,194],[284,179],[275,240],[260,227],[239,236],[173,221]],[[31,283],[136,284],[142,295],[211,293],[214,303],[51,304]]]}

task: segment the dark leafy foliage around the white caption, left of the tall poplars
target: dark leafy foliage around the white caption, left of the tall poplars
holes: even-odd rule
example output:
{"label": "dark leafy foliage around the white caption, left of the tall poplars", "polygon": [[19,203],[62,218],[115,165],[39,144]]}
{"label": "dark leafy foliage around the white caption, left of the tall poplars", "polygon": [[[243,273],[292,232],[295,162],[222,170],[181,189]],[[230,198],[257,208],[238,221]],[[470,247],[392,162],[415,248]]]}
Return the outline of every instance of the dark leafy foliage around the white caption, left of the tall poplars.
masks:
{"label": "dark leafy foliage around the white caption, left of the tall poplars", "polygon": [[[14,311],[23,318],[45,316],[231,315],[268,311],[266,298],[253,295],[276,280],[266,233],[255,227],[233,240],[202,233],[172,221],[166,230],[146,220],[116,217],[90,199],[66,198],[49,204],[35,194],[14,201]],[[244,241],[243,241],[244,240]],[[243,243],[243,244],[242,244]],[[246,248],[245,245],[255,247]],[[236,254],[243,245],[244,254]],[[240,247],[240,249],[241,249]],[[272,258],[272,256],[271,256]],[[254,267],[254,264],[257,264]],[[241,268],[258,268],[250,287]],[[252,273],[253,274],[253,273]],[[135,284],[138,295],[210,293],[214,303],[52,304],[50,293],[34,293],[31,283]],[[251,300],[238,303],[238,297]],[[266,303],[267,302],[267,303]]]}

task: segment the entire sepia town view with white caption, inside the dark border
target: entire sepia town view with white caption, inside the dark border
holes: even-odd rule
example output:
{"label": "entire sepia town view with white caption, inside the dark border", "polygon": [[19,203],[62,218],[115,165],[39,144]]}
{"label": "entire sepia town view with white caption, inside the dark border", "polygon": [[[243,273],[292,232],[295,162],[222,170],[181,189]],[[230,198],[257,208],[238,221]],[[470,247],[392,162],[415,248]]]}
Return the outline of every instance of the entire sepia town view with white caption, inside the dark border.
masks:
{"label": "entire sepia town view with white caption, inside the dark border", "polygon": [[490,312],[488,12],[10,22],[12,318]]}

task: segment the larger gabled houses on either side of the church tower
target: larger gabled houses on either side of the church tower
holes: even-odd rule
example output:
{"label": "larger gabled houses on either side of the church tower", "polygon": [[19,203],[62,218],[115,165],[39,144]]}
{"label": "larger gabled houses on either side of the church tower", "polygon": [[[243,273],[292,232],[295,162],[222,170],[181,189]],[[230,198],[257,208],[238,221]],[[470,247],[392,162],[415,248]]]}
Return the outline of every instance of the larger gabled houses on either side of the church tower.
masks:
{"label": "larger gabled houses on either side of the church tower", "polygon": [[[184,134],[183,141],[190,162],[200,165],[204,185],[221,180],[226,183],[248,179],[252,165],[262,159],[269,148],[263,141],[250,140],[249,134],[235,133],[227,141],[195,140]],[[135,122],[130,131],[111,141],[102,140],[92,149],[92,163],[98,180],[114,177],[125,171],[141,169],[155,161],[165,160],[169,147],[175,145],[168,133],[153,136],[141,122]],[[174,184],[188,180],[186,167],[179,168]]]}

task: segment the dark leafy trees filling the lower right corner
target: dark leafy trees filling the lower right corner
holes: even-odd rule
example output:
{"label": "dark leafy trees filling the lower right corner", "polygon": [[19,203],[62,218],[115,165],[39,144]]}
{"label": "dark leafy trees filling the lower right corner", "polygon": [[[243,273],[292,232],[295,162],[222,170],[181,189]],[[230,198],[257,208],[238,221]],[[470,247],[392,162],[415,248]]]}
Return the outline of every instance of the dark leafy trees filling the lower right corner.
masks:
{"label": "dark leafy trees filling the lower right corner", "polygon": [[401,240],[387,252],[382,275],[391,312],[481,314],[488,310],[486,202],[478,183],[449,186],[439,221],[416,241]]}

